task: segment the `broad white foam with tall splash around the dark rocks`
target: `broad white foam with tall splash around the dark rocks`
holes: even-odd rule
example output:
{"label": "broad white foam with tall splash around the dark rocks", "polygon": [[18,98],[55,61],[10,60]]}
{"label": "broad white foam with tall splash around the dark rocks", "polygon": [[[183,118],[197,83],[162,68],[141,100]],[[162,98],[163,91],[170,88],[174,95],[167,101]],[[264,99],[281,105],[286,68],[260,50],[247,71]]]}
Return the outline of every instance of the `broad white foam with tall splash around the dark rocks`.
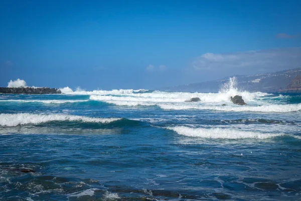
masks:
{"label": "broad white foam with tall splash around the dark rocks", "polygon": [[[143,91],[143,89],[139,89]],[[82,93],[82,92],[81,92]],[[91,94],[90,99],[115,104],[118,106],[153,106],[166,103],[179,103],[185,105],[185,100],[199,97],[201,103],[231,103],[231,96],[241,95],[249,103],[257,100],[267,93],[240,91],[236,88],[235,78],[221,88],[218,93],[190,93],[190,92],[163,92],[153,91],[151,93],[133,93],[132,89],[112,90],[112,91],[86,91],[85,94]],[[231,103],[232,104],[232,103]],[[194,105],[198,105],[194,103]],[[185,107],[184,107],[185,108]]]}

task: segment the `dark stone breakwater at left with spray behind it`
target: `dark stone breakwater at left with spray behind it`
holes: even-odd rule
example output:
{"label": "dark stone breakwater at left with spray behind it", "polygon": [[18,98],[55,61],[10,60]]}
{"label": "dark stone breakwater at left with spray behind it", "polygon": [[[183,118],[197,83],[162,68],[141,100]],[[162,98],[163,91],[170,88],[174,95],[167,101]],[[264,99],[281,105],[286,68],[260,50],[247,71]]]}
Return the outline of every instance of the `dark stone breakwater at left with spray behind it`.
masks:
{"label": "dark stone breakwater at left with spray behind it", "polygon": [[58,94],[62,93],[58,88],[49,87],[0,87],[0,93],[15,93],[15,94]]}

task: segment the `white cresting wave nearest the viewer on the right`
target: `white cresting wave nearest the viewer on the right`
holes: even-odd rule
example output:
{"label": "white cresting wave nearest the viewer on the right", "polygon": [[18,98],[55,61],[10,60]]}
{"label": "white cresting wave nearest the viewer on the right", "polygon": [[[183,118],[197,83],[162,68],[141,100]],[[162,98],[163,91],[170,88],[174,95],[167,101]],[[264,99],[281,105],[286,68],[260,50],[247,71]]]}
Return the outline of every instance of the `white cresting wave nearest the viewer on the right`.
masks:
{"label": "white cresting wave nearest the viewer on the right", "polygon": [[260,133],[252,131],[241,131],[238,129],[225,129],[225,128],[190,128],[185,126],[168,127],[167,129],[173,130],[180,135],[189,137],[200,137],[210,139],[267,139],[279,136],[290,136],[297,139],[301,139],[300,136],[294,136],[284,133]]}

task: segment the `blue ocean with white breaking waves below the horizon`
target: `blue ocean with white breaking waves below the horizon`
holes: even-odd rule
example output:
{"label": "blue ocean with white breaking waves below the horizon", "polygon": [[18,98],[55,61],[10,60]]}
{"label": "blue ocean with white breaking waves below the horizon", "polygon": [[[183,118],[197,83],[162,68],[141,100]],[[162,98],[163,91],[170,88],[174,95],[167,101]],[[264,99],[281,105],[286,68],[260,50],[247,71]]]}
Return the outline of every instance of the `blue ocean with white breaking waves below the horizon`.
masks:
{"label": "blue ocean with white breaking waves below the horizon", "polygon": [[301,94],[61,90],[0,94],[0,200],[301,200]]}

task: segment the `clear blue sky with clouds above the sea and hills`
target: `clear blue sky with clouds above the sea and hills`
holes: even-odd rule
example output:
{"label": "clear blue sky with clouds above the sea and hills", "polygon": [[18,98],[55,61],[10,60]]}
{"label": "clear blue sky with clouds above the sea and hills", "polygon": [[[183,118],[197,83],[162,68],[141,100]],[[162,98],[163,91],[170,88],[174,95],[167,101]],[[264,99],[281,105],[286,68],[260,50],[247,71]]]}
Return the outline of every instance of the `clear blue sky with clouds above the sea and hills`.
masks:
{"label": "clear blue sky with clouds above the sea and hills", "polygon": [[0,86],[156,88],[301,67],[301,1],[0,1]]}

